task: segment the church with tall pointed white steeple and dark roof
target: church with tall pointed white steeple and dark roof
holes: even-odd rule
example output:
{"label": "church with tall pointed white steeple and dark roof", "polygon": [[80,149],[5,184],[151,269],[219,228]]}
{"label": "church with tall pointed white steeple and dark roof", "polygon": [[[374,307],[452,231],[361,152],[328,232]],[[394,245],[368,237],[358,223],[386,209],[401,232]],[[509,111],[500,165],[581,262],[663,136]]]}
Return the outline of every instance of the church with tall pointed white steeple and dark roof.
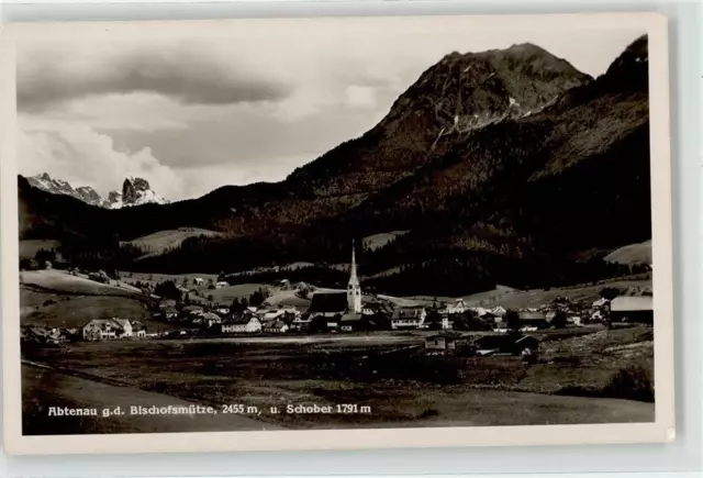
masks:
{"label": "church with tall pointed white steeple and dark roof", "polygon": [[310,319],[324,316],[327,329],[352,331],[361,322],[361,286],[356,270],[356,251],[352,243],[352,266],[346,291],[315,292],[308,309]]}

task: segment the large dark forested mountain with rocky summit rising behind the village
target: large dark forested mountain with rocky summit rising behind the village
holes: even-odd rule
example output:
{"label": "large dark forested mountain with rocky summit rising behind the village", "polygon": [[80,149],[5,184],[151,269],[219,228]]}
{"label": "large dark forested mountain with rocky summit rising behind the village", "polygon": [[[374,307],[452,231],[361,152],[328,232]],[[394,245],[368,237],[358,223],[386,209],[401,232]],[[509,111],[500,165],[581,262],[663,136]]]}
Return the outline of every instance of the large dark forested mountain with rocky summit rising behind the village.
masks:
{"label": "large dark forested mountain with rocky summit rising behind the village", "polygon": [[222,233],[138,265],[108,255],[174,273],[341,263],[353,237],[408,231],[359,253],[362,274],[395,271],[369,286],[440,294],[433,285],[595,280],[620,271],[602,256],[651,237],[648,114],[646,36],[599,78],[532,44],[451,53],[366,134],[281,182],[109,211],[48,200],[20,178],[22,231],[82,247],[182,226]]}

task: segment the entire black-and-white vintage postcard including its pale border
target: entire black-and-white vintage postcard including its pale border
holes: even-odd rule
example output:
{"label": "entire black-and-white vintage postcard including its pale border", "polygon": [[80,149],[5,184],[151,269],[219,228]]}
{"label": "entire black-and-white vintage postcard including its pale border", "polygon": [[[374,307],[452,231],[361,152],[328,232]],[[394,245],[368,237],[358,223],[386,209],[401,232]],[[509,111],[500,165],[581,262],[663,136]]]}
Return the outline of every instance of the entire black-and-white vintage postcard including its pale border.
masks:
{"label": "entire black-and-white vintage postcard including its pale border", "polygon": [[673,440],[665,16],[0,48],[10,453]]}

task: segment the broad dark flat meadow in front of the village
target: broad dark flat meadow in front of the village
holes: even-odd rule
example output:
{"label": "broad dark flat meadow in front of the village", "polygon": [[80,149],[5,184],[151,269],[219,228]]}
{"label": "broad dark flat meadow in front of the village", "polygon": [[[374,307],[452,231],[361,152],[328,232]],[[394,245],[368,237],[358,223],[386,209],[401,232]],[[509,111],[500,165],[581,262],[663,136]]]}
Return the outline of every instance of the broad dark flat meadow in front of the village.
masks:
{"label": "broad dark flat meadow in front of the village", "polygon": [[[651,367],[646,327],[554,337],[534,365],[515,357],[431,356],[419,335],[386,335],[81,343],[31,358],[203,404],[371,408],[257,418],[291,429],[654,420],[654,403],[618,399],[613,388],[622,369]],[[592,353],[578,355],[578,347]]]}

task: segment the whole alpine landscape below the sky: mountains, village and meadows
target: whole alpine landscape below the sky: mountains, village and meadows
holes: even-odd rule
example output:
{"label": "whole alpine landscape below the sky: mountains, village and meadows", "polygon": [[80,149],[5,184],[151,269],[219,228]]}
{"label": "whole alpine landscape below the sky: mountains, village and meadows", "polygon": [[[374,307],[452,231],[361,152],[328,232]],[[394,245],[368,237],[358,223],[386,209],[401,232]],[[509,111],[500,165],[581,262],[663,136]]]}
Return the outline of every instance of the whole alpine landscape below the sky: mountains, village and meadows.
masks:
{"label": "whole alpine landscape below the sky: mountains, village and meadows", "polygon": [[449,53],[278,182],[18,177],[25,433],[652,421],[647,48],[598,77],[529,43]]}

